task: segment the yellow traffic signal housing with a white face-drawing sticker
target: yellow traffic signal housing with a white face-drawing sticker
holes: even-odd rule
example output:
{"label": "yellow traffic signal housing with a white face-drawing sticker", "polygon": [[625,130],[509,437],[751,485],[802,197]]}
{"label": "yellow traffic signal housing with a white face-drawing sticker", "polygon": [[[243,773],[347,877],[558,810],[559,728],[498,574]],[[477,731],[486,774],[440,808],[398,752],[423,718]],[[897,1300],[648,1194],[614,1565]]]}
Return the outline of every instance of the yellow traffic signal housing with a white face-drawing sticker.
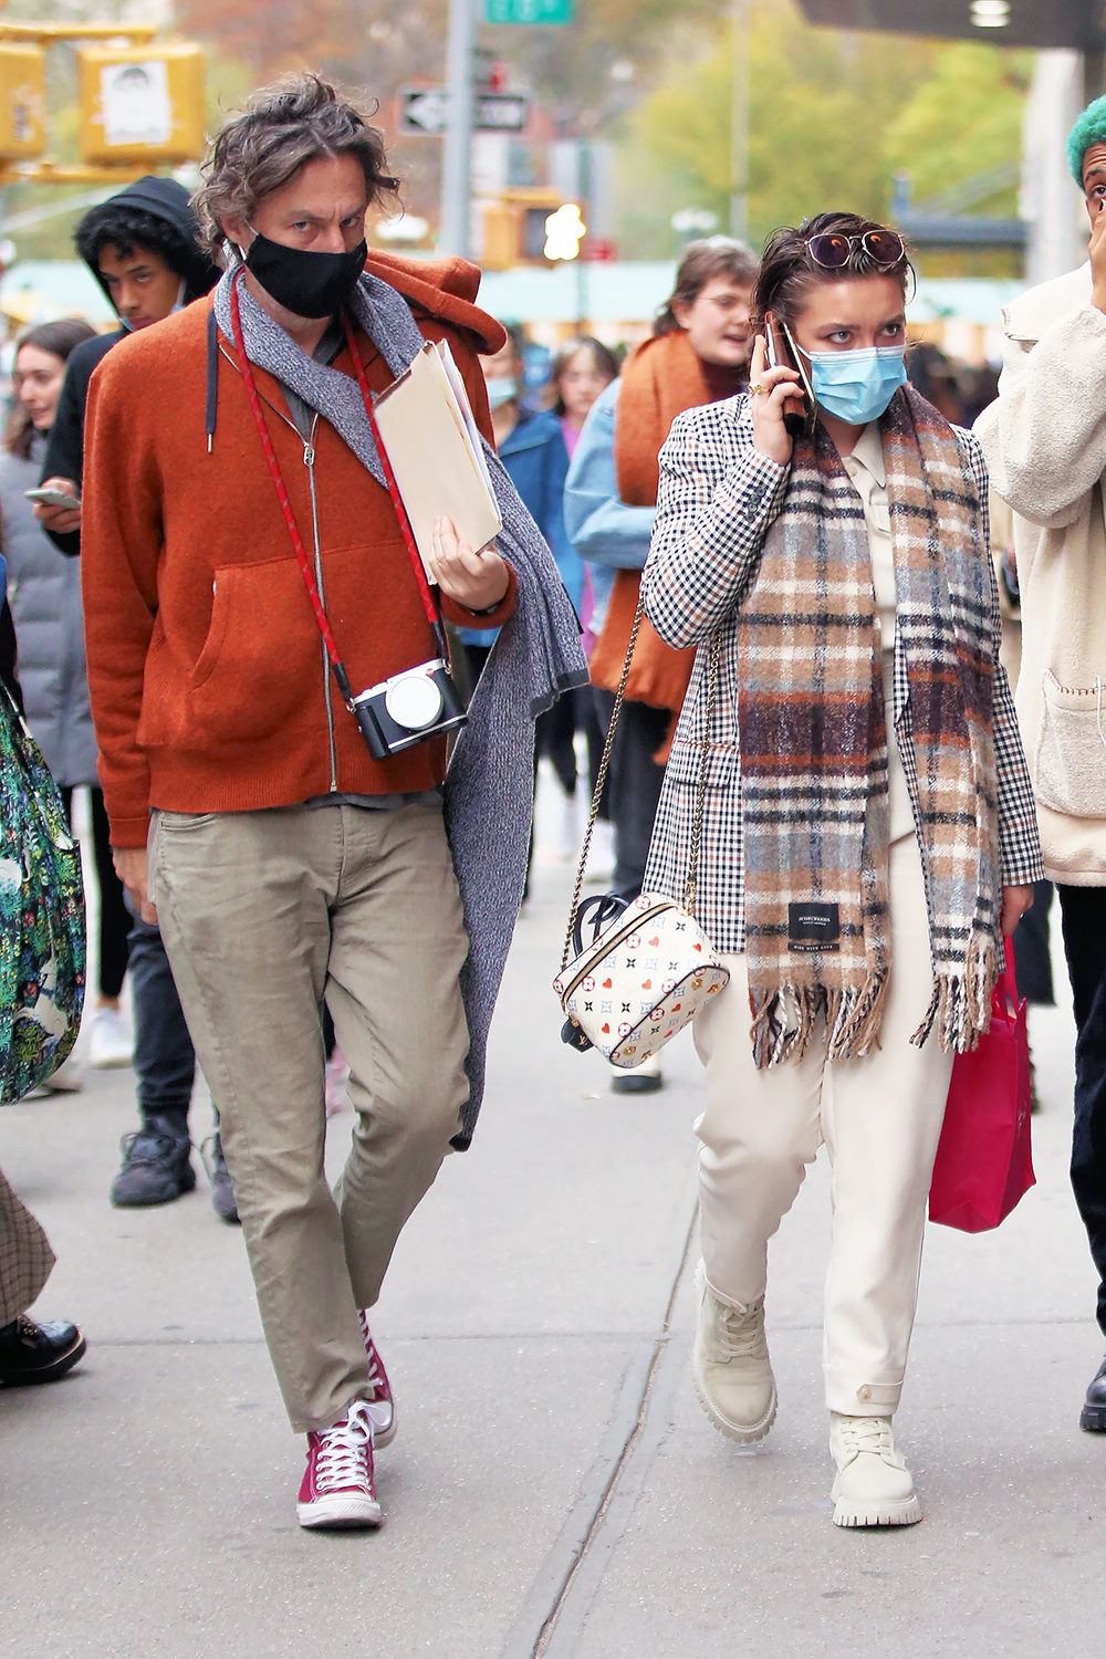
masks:
{"label": "yellow traffic signal housing with a white face-drawing sticker", "polygon": [[76,60],[86,163],[159,168],[202,154],[202,46],[81,46]]}

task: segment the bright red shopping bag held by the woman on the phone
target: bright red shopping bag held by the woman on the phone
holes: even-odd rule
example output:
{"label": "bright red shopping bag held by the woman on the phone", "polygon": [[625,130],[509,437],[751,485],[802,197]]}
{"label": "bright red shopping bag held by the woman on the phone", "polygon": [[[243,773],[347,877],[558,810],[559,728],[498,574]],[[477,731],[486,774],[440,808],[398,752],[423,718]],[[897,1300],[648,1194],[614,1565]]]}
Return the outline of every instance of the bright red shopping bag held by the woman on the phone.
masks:
{"label": "bright red shopping bag held by the woman on the phone", "polygon": [[985,1233],[1007,1219],[1035,1181],[1030,1039],[1007,939],[1007,969],[995,985],[990,1030],[972,1053],[958,1053],[952,1063],[929,1218],[962,1233]]}

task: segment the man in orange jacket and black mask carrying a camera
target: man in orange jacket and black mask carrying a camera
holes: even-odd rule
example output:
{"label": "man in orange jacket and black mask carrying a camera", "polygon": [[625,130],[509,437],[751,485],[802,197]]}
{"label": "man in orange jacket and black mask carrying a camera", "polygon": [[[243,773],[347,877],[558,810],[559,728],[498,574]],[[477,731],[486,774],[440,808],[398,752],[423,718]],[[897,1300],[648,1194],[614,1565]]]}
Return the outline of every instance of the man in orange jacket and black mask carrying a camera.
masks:
{"label": "man in orange jacket and black mask carrying a camera", "polygon": [[[473,304],[473,265],[368,252],[366,212],[396,181],[365,113],[292,76],[227,123],[204,171],[222,280],[91,385],[93,715],[116,866],[161,922],[307,1433],[298,1520],[376,1526],[373,1445],[396,1417],[368,1309],[473,1133],[526,873],[532,720],[584,660],[494,455],[502,533],[471,547],[439,518],[426,581],[373,398],[436,342],[488,438],[478,353],[504,332]],[[448,776],[464,717],[443,619],[501,627]],[[366,710],[386,717],[383,745]],[[323,1002],[357,1110],[335,1194]]]}

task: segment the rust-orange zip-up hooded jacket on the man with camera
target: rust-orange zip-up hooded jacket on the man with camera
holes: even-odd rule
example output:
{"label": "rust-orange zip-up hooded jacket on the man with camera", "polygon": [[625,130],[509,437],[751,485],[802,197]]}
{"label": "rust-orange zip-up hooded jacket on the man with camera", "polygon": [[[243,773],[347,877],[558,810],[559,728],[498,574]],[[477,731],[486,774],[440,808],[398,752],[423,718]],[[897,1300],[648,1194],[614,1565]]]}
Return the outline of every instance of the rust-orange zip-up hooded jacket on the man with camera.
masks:
{"label": "rust-orange zip-up hooded jacket on the man with camera", "polygon": [[[415,302],[428,340],[449,342],[491,436],[476,352],[497,350],[504,333],[471,304],[476,267],[373,255],[368,269]],[[151,806],[247,811],[327,795],[327,690],[340,791],[428,790],[444,776],[444,740],[375,761],[342,703],[234,352],[219,357],[207,453],[211,304],[197,300],[119,342],[90,387],[81,516],[88,685],[119,848],[146,844]],[[388,367],[365,335],[357,340],[368,385],[381,392]],[[348,350],[335,368],[353,373]],[[279,382],[262,368],[254,373],[312,557],[303,443]],[[360,692],[434,657],[434,637],[388,493],[322,418],[315,488],[327,615]],[[506,599],[479,625],[504,622],[514,596],[512,572]],[[473,612],[444,597],[443,614],[473,625]]]}

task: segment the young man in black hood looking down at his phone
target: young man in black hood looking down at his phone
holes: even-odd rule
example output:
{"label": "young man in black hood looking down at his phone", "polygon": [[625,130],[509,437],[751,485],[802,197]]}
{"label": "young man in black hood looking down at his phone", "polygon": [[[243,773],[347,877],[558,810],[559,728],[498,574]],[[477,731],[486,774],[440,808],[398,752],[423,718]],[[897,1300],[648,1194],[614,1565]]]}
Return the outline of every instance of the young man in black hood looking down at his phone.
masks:
{"label": "young man in black hood looking down at his phone", "polygon": [[[192,304],[219,272],[196,242],[196,214],[176,179],[144,178],[91,207],[73,239],[119,317],[111,333],[78,345],[66,367],[43,460],[45,483],[80,494],[85,408],[96,367],[133,335]],[[35,518],[66,554],[81,551],[81,508],[35,508]],[[196,1052],[169,959],[156,926],[141,916],[129,934],[134,1005],[134,1070],[139,1128],[123,1136],[123,1166],[111,1183],[119,1208],[167,1204],[196,1186],[189,1107]],[[237,1221],[234,1188],[219,1130],[204,1143],[216,1214]]]}

